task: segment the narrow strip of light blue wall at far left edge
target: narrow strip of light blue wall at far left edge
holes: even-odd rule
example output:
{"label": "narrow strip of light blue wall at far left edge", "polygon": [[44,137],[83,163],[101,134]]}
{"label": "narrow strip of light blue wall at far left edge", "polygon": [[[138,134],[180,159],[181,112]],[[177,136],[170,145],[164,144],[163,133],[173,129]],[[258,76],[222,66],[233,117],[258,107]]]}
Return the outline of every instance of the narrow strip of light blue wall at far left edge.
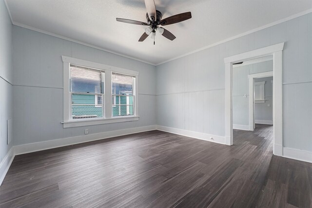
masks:
{"label": "narrow strip of light blue wall at far left edge", "polygon": [[4,1],[0,0],[0,162],[13,144],[6,142],[7,119],[12,118],[13,113],[12,83],[12,23]]}

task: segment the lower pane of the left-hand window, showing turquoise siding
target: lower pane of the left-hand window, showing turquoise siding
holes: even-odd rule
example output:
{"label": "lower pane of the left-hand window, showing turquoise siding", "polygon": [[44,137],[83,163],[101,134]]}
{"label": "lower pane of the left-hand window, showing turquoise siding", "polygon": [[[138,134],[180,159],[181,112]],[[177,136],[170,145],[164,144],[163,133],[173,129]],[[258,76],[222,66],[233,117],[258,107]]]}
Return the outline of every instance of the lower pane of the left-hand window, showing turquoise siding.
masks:
{"label": "lower pane of the left-hand window, showing turquoise siding", "polygon": [[[99,98],[100,97],[100,98]],[[98,105],[96,100],[102,102],[101,95],[72,95],[72,118],[96,118],[103,117],[102,105]]]}

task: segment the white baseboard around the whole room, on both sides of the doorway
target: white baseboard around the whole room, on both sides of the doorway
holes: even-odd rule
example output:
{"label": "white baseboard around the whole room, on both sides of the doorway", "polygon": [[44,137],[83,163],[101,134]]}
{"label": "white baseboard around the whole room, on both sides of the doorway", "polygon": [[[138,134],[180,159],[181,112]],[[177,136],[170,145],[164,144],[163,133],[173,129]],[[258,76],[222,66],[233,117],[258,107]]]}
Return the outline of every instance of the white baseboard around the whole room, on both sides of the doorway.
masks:
{"label": "white baseboard around the whole room, on both sides of the doorway", "polygon": [[[0,185],[2,184],[2,181],[12,164],[12,161],[15,155],[41,151],[41,150],[47,150],[47,149],[53,149],[53,148],[74,145],[74,144],[79,144],[79,143],[84,143],[84,142],[89,142],[89,141],[95,141],[95,140],[100,140],[100,139],[106,139],[106,138],[111,138],[111,137],[116,137],[116,136],[122,136],[122,135],[127,135],[127,134],[132,134],[132,133],[147,132],[147,131],[152,131],[152,130],[170,132],[170,133],[175,133],[175,134],[179,134],[183,136],[189,136],[189,137],[193,137],[193,138],[201,139],[205,141],[215,142],[219,144],[226,144],[225,136],[217,136],[217,135],[212,135],[212,134],[207,134],[207,133],[192,132],[188,130],[181,130],[181,129],[171,128],[171,127],[152,125],[152,126],[137,127],[137,128],[132,128],[132,129],[101,132],[101,133],[95,133],[95,134],[88,134],[88,135],[81,135],[81,136],[75,136],[75,137],[69,137],[69,138],[36,142],[36,143],[31,143],[31,144],[18,145],[18,146],[12,147],[11,150],[7,153],[7,155],[4,157],[4,159],[0,163]],[[211,139],[211,137],[213,138]],[[275,147],[274,148],[275,155],[312,163],[312,152],[310,151],[302,151],[302,150],[285,148],[285,147],[283,148],[282,145],[277,145],[277,144],[275,144],[274,147]]]}

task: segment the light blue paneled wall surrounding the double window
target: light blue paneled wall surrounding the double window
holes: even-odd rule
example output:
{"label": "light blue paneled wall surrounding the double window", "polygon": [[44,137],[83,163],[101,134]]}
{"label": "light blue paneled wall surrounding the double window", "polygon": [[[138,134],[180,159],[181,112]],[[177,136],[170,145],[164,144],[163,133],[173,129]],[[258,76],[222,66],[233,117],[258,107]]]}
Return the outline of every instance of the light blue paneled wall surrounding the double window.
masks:
{"label": "light blue paneled wall surrounding the double window", "polygon": [[[156,125],[156,67],[13,26],[15,145]],[[63,129],[61,55],[139,72],[139,120]]]}

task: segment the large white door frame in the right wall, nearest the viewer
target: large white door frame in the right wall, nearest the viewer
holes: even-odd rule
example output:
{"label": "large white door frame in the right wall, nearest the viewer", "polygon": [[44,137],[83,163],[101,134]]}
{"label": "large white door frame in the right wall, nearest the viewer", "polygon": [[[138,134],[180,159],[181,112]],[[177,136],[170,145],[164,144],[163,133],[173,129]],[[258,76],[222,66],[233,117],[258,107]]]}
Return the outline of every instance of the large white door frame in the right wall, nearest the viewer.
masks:
{"label": "large white door frame in the right wall, nearest the viewer", "polygon": [[233,63],[273,55],[273,153],[283,154],[282,51],[284,42],[224,58],[225,63],[225,144],[233,145]]}

